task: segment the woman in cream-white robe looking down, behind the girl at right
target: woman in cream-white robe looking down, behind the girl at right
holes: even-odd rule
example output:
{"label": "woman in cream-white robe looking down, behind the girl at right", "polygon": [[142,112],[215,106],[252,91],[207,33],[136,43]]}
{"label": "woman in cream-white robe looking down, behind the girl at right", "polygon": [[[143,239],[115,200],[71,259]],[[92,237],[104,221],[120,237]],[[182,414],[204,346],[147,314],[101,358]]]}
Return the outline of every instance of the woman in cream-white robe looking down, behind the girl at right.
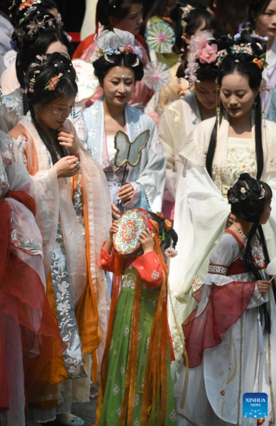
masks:
{"label": "woman in cream-white robe looking down, behind the girl at right", "polygon": [[[182,363],[181,324],[194,309],[192,293],[208,271],[209,253],[233,216],[226,200],[228,188],[248,172],[276,189],[275,124],[262,122],[259,87],[265,43],[245,31],[236,40],[226,38],[219,52],[221,87],[219,121],[195,126],[180,153],[182,173],[177,186],[175,229],[180,235],[178,256],[170,263],[173,310],[170,327],[178,366]],[[231,45],[232,47],[229,47]],[[251,45],[247,45],[251,43]],[[226,55],[227,54],[227,55]],[[237,62],[238,61],[238,62]],[[219,126],[218,126],[219,124]],[[276,253],[276,205],[265,225],[270,256]],[[176,378],[176,377],[175,377]]]}

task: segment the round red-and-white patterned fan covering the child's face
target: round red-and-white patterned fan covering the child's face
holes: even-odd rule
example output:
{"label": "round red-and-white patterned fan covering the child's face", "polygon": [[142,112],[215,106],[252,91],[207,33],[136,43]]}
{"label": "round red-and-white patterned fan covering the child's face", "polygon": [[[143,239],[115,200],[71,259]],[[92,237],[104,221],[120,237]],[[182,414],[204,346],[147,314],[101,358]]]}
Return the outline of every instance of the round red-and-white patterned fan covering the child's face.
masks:
{"label": "round red-and-white patterned fan covering the child's face", "polygon": [[143,209],[128,210],[121,215],[118,219],[118,232],[113,236],[114,248],[118,253],[128,255],[140,249],[140,233],[147,228],[153,230],[149,219],[150,215]]}

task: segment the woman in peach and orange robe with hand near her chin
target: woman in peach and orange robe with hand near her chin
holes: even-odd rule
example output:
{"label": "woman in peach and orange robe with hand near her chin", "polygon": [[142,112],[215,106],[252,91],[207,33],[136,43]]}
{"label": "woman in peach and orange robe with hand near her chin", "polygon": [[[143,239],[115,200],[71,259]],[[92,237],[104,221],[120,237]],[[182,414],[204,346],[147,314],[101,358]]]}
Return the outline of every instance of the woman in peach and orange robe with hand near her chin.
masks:
{"label": "woman in peach and orange robe with hand near her chin", "polygon": [[[111,224],[106,210],[109,187],[67,120],[77,95],[76,73],[67,53],[38,56],[29,67],[26,85],[31,119],[23,117],[10,133],[26,139],[48,300],[68,345],[52,366],[55,381],[61,382],[59,389],[44,390],[39,403],[33,404],[31,420],[45,422],[57,416],[62,425],[82,425],[70,411],[72,399],[89,400],[91,355],[96,381],[96,349],[101,342],[98,305],[105,294],[97,260]],[[72,381],[65,383],[73,378],[77,379],[73,387]]]}

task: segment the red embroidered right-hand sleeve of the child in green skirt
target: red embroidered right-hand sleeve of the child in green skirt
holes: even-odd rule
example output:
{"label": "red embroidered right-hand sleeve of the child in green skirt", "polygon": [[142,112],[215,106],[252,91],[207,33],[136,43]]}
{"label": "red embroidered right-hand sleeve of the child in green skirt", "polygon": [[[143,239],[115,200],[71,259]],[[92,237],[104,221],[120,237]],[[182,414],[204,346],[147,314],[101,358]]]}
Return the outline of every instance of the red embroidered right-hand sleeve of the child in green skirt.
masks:
{"label": "red embroidered right-hand sleeve of the child in green skirt", "polygon": [[160,288],[163,274],[160,261],[154,251],[149,251],[137,258],[133,262],[133,267],[137,269],[148,288]]}

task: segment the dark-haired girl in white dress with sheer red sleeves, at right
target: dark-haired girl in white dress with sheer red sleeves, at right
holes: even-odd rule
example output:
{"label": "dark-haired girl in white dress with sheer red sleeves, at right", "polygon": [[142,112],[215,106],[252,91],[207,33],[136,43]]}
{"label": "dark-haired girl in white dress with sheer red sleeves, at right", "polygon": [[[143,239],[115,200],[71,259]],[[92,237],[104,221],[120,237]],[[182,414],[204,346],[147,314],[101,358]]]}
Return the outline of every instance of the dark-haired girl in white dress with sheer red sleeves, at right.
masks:
{"label": "dark-haired girl in white dress with sheer red sleeves, at right", "polygon": [[[189,369],[175,385],[180,426],[275,425],[276,288],[265,278],[261,226],[271,200],[269,185],[248,173],[228,190],[236,221],[211,251],[199,304],[182,326]],[[243,410],[244,393],[267,394],[266,418],[262,408]]]}

